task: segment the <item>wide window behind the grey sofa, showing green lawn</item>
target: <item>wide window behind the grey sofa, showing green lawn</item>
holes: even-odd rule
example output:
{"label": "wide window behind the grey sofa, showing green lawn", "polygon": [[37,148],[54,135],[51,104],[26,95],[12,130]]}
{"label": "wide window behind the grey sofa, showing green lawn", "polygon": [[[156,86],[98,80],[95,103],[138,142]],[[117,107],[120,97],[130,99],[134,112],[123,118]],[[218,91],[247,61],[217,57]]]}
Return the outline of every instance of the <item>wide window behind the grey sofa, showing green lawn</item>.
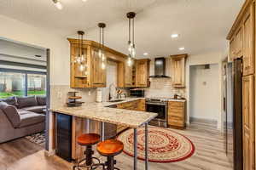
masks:
{"label": "wide window behind the grey sofa, showing green lawn", "polygon": [[46,73],[0,69],[0,99],[45,94]]}

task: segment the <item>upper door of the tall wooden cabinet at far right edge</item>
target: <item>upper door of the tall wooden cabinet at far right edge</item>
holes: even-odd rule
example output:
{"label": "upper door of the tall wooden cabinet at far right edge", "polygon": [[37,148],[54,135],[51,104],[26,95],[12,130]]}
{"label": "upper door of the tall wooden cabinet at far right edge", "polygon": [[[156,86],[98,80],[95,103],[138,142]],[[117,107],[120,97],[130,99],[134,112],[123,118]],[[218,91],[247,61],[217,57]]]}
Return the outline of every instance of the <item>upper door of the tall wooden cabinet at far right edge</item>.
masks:
{"label": "upper door of the tall wooden cabinet at far right edge", "polygon": [[243,75],[254,73],[254,7],[250,6],[243,20]]}

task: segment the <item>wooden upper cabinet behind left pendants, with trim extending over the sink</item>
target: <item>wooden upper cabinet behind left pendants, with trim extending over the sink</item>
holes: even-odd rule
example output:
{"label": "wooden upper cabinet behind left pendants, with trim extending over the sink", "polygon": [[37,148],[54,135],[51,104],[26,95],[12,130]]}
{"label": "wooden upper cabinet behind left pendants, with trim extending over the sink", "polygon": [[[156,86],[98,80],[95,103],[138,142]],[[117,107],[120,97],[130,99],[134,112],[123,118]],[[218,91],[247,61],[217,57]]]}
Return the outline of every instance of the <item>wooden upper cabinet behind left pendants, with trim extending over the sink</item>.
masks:
{"label": "wooden upper cabinet behind left pendants, with trim extending over the sink", "polygon": [[[84,40],[82,64],[75,63],[74,60],[79,54],[79,40],[68,38],[70,42],[70,86],[71,88],[104,88],[106,87],[106,70],[102,69],[102,60],[99,58],[99,43]],[[107,59],[118,63],[118,87],[124,87],[125,60],[127,56],[111,48],[104,47]],[[85,69],[81,70],[80,67]],[[107,68],[107,67],[106,67]]]}

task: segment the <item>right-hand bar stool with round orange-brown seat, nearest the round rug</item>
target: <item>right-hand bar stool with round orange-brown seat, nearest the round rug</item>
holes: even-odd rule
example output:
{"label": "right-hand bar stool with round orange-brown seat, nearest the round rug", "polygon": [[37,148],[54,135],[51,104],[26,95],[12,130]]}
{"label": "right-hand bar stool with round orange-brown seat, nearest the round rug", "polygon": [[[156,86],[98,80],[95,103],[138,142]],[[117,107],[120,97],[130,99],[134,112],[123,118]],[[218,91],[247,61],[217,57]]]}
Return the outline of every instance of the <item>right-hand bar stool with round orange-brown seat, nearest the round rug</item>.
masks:
{"label": "right-hand bar stool with round orange-brown seat, nearest the round rug", "polygon": [[[114,167],[116,161],[113,157],[119,155],[123,150],[124,144],[116,139],[108,139],[97,144],[97,151],[99,154],[102,156],[107,156],[107,161],[105,162],[107,170],[119,170],[119,168]],[[105,170],[104,167],[103,169]]]}

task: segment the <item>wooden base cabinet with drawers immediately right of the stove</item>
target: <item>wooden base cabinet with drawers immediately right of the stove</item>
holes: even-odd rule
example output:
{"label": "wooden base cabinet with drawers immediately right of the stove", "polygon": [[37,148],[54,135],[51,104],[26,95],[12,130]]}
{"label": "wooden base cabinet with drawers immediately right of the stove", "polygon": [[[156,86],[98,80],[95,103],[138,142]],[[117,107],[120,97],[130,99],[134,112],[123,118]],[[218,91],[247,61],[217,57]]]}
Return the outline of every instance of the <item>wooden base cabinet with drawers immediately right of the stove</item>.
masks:
{"label": "wooden base cabinet with drawers immediately right of the stove", "polygon": [[186,102],[169,101],[168,102],[168,125],[170,127],[184,128],[185,127],[185,107]]}

